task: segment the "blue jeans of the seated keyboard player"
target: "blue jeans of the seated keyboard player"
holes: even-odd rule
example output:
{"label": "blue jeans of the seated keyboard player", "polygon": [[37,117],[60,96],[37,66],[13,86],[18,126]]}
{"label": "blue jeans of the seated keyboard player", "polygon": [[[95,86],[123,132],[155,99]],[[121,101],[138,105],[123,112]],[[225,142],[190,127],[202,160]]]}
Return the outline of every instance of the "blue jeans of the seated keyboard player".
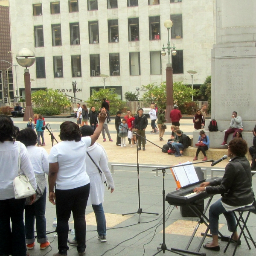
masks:
{"label": "blue jeans of the seated keyboard player", "polygon": [[210,206],[209,223],[212,235],[218,235],[218,220],[219,215],[224,214],[227,220],[227,228],[230,232],[234,232],[236,227],[236,218],[233,212],[227,212],[221,204],[221,198]]}

